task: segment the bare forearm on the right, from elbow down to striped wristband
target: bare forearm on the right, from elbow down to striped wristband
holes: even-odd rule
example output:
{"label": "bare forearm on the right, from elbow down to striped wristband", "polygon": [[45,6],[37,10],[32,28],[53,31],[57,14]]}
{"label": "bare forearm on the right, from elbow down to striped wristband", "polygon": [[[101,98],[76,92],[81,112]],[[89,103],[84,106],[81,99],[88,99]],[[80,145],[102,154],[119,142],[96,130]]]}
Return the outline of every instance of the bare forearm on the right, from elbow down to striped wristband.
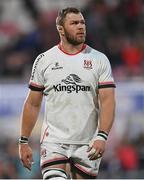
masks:
{"label": "bare forearm on the right, from elbow down to striped wristband", "polygon": [[109,133],[111,130],[115,115],[115,100],[106,99],[100,107],[99,130]]}

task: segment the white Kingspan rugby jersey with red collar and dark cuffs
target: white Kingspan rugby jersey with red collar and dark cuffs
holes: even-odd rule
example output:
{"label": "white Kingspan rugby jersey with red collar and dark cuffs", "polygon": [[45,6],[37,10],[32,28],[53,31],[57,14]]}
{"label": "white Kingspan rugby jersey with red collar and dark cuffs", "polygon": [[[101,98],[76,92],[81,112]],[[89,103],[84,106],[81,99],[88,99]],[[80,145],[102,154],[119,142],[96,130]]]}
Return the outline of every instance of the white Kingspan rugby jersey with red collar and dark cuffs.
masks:
{"label": "white Kingspan rugby jersey with red collar and dark cuffs", "polygon": [[41,142],[87,144],[97,133],[99,88],[115,87],[107,57],[84,44],[76,54],[60,45],[40,54],[29,88],[46,98]]}

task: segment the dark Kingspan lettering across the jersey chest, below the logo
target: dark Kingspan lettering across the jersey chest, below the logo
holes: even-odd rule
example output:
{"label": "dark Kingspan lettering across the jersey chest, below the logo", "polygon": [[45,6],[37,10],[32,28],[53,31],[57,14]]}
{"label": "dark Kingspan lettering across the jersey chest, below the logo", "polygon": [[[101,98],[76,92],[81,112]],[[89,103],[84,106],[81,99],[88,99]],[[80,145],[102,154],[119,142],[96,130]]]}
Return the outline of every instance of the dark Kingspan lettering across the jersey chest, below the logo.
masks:
{"label": "dark Kingspan lettering across the jersey chest, below the logo", "polygon": [[78,93],[79,91],[90,91],[90,86],[84,86],[84,85],[53,85],[53,88],[55,92],[61,92],[61,91],[66,91],[67,93],[71,93],[72,91],[75,91]]}

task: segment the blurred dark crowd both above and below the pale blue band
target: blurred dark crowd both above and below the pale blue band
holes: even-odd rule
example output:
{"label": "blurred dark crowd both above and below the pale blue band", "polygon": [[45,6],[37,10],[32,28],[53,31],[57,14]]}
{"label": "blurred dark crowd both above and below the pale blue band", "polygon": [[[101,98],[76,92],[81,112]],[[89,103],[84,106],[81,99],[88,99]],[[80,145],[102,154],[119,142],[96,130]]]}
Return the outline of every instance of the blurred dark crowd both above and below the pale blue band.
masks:
{"label": "blurred dark crowd both above and below the pale blue band", "polygon": [[[33,0],[18,3],[20,14],[8,21],[9,2],[0,1],[0,82],[28,82],[35,57],[59,42],[57,9],[42,10]],[[38,2],[38,0],[36,1]],[[12,5],[12,4],[11,4]],[[12,6],[11,6],[12,7]],[[82,7],[87,24],[86,43],[107,54],[116,81],[143,79],[144,1],[89,0]],[[13,12],[15,13],[15,12]],[[20,19],[22,14],[26,16]],[[12,14],[11,14],[12,16]],[[21,23],[20,21],[24,22]],[[20,24],[23,24],[22,26]],[[24,26],[25,25],[25,26]],[[144,177],[144,134],[135,140],[125,135],[101,164],[100,178]],[[41,178],[39,140],[34,139],[35,164],[28,173],[18,159],[17,140],[0,139],[0,178]],[[137,171],[139,170],[139,171]]]}

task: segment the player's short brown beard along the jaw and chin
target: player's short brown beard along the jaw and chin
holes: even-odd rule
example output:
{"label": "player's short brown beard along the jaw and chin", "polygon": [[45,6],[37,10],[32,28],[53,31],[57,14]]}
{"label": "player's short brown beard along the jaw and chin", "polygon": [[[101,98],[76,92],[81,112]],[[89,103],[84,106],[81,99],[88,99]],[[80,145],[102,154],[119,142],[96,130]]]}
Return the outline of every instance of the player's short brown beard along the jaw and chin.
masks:
{"label": "player's short brown beard along the jaw and chin", "polygon": [[73,35],[71,35],[65,28],[64,31],[65,31],[65,38],[70,44],[80,45],[85,42],[85,35],[81,38],[77,38],[76,36],[74,37]]}

